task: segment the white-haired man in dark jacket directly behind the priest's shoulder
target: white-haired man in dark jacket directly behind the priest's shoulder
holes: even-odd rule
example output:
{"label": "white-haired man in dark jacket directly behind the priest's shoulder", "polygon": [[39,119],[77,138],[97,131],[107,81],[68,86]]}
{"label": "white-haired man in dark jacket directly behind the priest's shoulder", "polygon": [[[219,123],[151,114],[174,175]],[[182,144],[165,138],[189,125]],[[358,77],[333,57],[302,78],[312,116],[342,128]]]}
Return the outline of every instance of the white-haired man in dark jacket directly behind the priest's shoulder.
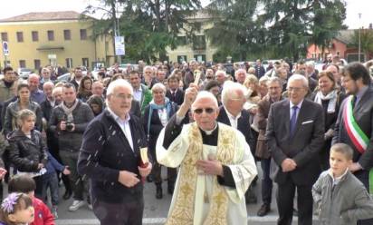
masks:
{"label": "white-haired man in dark jacket directly behind the priest's shoulder", "polygon": [[[223,106],[219,108],[216,121],[223,122],[242,132],[254,155],[255,146],[253,146],[253,134],[250,129],[250,113],[244,110],[246,102],[244,93],[244,86],[240,83],[226,82],[222,91]],[[246,191],[245,198],[247,203],[256,203],[253,185]]]}

